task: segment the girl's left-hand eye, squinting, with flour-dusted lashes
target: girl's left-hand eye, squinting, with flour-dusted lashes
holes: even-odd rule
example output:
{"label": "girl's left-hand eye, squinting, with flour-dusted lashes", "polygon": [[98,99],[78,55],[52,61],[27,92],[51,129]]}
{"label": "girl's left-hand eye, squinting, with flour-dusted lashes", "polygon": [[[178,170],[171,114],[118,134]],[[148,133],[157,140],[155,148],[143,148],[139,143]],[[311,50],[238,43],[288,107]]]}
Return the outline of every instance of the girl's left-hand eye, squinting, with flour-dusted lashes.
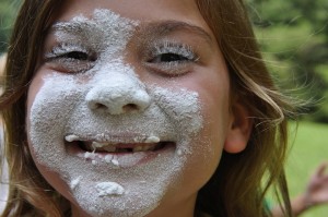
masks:
{"label": "girl's left-hand eye, squinting, with flour-dusted lashes", "polygon": [[45,55],[46,62],[56,71],[63,73],[80,73],[90,70],[96,57],[83,46],[61,44]]}

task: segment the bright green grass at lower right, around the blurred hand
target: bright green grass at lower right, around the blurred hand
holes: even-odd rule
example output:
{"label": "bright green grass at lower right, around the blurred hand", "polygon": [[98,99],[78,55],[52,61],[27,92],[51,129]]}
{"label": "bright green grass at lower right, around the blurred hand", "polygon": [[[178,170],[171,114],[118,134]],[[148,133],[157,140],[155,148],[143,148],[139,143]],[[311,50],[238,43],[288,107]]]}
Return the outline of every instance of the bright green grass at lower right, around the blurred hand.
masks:
{"label": "bright green grass at lower right, around the blurred hand", "polygon": [[[293,133],[296,134],[293,135]],[[328,161],[328,124],[300,122],[298,128],[292,124],[293,143],[286,166],[286,177],[291,197],[304,191],[308,177],[321,162]],[[328,172],[327,172],[328,173]],[[328,204],[314,207],[302,217],[328,216]]]}

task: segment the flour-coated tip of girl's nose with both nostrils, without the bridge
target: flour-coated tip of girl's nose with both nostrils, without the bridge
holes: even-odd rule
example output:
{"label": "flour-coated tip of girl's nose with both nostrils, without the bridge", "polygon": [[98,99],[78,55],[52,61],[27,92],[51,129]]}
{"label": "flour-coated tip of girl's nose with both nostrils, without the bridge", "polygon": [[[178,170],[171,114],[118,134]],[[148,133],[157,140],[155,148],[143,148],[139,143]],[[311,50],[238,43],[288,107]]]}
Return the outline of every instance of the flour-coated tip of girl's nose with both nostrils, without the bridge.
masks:
{"label": "flour-coated tip of girl's nose with both nostrils, without the bridge", "polygon": [[85,100],[94,111],[122,114],[143,111],[149,107],[151,97],[136,81],[103,81],[89,91]]}

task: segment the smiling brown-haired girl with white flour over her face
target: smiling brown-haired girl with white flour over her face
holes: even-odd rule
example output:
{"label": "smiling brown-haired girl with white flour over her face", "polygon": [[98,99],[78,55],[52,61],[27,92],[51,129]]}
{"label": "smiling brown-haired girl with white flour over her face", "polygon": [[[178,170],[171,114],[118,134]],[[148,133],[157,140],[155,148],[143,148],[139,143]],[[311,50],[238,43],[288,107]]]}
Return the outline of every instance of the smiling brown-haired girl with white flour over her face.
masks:
{"label": "smiling brown-haired girl with white flour over her face", "polygon": [[[290,106],[241,0],[25,1],[3,216],[285,216]],[[266,178],[266,179],[265,179]]]}

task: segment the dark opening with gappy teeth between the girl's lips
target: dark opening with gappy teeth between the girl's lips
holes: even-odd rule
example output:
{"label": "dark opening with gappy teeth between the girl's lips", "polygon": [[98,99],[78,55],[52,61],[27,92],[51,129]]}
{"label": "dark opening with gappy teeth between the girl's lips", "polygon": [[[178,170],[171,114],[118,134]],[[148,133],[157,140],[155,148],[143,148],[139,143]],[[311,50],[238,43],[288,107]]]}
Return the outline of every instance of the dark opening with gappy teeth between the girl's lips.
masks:
{"label": "dark opening with gappy teeth between the girl's lips", "polygon": [[167,147],[175,146],[175,142],[160,141],[159,137],[152,136],[143,143],[113,143],[81,140],[71,135],[66,136],[68,145],[75,145],[84,152],[104,153],[104,154],[133,154],[140,152],[159,152]]}

